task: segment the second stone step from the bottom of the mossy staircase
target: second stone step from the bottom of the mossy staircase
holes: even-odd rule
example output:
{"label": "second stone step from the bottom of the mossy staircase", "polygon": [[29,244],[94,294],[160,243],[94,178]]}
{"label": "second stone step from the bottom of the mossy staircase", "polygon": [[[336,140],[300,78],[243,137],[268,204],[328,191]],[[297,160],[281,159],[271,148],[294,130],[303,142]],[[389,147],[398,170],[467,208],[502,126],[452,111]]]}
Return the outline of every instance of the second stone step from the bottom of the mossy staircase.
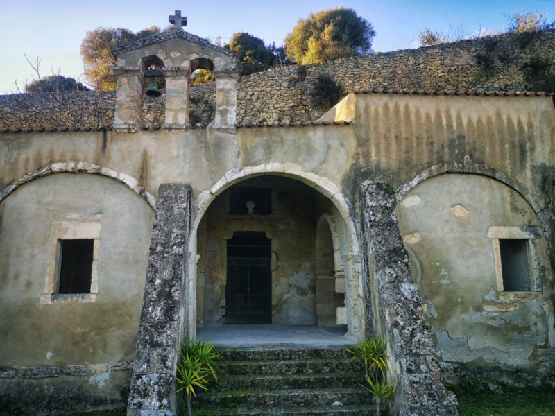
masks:
{"label": "second stone step from the bottom of the mossy staircase", "polygon": [[360,388],[324,388],[294,390],[232,390],[206,392],[197,398],[201,408],[280,408],[283,406],[332,406],[334,402],[350,405],[373,404],[373,397]]}

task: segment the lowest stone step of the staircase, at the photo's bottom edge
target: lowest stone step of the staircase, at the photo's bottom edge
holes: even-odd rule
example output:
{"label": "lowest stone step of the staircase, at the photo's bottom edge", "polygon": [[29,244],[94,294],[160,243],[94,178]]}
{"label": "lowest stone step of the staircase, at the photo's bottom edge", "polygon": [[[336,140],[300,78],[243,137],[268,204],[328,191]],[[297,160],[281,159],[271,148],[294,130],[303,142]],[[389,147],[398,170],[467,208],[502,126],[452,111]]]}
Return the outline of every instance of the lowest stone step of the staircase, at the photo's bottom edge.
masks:
{"label": "lowest stone step of the staircase, at the photo's bottom edge", "polygon": [[[194,406],[194,404],[193,404]],[[193,407],[194,408],[194,407]],[[271,409],[247,409],[247,408],[217,408],[199,409],[193,411],[194,415],[221,415],[221,416],[258,416],[258,415],[280,415],[280,416],[372,416],[376,413],[373,404],[339,405],[339,406],[316,406],[306,408],[303,406],[285,406]]]}

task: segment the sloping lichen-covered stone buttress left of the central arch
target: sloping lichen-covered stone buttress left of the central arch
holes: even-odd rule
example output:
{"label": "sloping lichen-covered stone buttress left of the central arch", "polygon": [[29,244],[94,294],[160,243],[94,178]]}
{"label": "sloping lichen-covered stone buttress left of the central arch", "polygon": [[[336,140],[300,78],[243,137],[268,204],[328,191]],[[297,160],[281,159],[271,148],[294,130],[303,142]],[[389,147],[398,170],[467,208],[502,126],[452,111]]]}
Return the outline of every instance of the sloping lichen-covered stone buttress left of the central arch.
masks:
{"label": "sloping lichen-covered stone buttress left of the central arch", "polygon": [[185,322],[191,187],[162,184],[156,200],[128,415],[176,414],[177,352]]}

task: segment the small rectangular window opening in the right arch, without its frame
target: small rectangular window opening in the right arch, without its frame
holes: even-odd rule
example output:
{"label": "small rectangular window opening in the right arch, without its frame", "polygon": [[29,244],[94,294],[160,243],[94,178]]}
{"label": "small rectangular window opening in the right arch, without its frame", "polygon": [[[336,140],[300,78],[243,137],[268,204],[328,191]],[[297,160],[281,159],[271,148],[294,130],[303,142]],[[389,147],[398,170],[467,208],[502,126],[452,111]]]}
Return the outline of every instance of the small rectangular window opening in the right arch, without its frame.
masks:
{"label": "small rectangular window opening in the right arch, without its frame", "polygon": [[503,291],[530,291],[528,239],[499,239]]}

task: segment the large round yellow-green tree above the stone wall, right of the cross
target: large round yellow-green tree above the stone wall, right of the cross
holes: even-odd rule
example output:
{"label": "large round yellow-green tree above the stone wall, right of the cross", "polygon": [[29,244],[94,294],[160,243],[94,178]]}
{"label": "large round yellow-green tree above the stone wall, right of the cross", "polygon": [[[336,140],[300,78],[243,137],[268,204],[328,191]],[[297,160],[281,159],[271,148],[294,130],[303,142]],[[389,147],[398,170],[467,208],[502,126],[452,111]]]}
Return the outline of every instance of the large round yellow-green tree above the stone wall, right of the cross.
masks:
{"label": "large round yellow-green tree above the stone wall, right of the cross", "polygon": [[369,53],[372,24],[350,8],[332,8],[299,19],[285,37],[285,51],[298,64],[320,63]]}

